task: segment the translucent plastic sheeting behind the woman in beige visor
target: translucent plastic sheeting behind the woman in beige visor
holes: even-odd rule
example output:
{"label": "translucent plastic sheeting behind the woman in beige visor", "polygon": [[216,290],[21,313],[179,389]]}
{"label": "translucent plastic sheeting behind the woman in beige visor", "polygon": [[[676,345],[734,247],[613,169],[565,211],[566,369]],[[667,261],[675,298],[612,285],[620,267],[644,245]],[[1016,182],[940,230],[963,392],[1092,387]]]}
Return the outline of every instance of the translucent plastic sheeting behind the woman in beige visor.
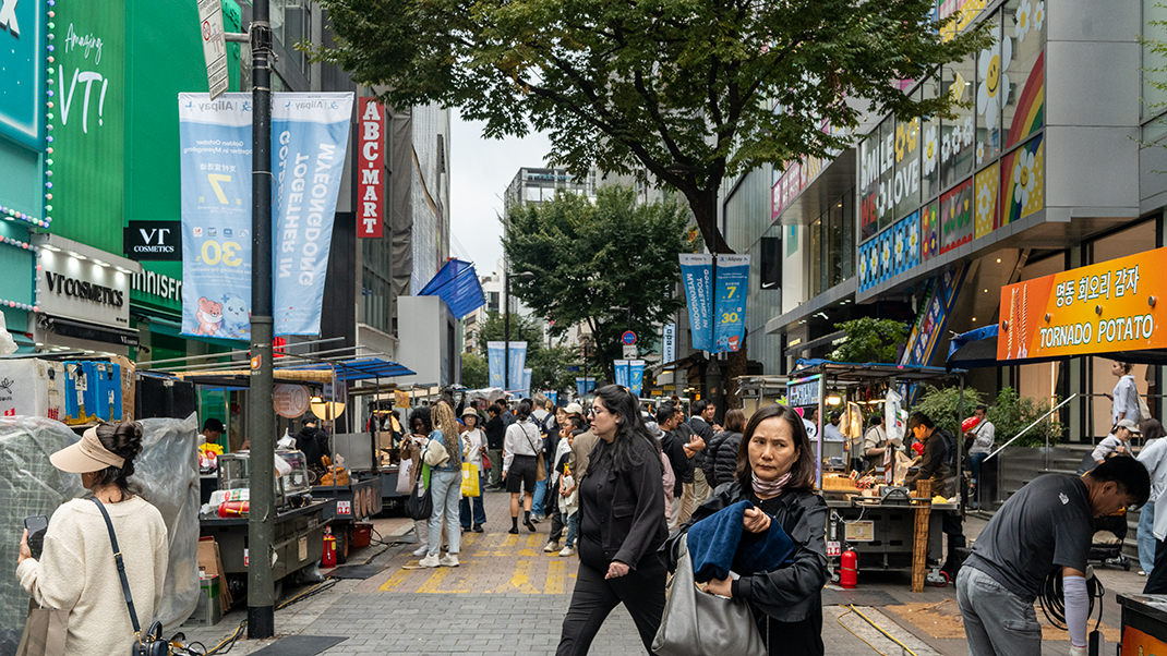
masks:
{"label": "translucent plastic sheeting behind the woman in beige visor", "polygon": [[[173,632],[198,602],[197,421],[142,419],[142,452],[130,479],[162,514],[170,542],[167,597],[158,620]],[[16,581],[16,555],[23,520],[53,516],[61,503],[86,494],[81,477],[57,471],[49,456],[77,442],[68,426],[37,417],[0,418],[0,656],[15,654],[28,612],[28,595]],[[112,566],[112,556],[111,556]]]}

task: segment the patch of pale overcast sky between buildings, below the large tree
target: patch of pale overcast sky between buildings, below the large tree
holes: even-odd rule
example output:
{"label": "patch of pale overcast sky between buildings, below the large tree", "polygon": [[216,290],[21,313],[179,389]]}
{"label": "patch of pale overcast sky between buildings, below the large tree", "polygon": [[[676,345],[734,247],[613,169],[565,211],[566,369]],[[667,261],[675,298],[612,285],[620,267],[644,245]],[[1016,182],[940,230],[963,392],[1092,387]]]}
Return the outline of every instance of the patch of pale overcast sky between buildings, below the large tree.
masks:
{"label": "patch of pale overcast sky between buildings, below the large tree", "polygon": [[483,139],[482,124],[454,111],[450,128],[450,251],[489,275],[503,256],[503,193],[520,167],[541,167],[550,150],[541,134],[524,139]]}

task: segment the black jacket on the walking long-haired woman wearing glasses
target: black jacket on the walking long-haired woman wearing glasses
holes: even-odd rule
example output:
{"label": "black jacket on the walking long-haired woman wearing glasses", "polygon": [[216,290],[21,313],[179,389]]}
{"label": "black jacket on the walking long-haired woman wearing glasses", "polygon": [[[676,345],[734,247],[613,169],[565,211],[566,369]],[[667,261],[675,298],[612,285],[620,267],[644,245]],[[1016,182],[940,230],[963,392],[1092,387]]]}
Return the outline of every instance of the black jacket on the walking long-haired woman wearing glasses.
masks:
{"label": "black jacket on the walking long-haired woman wearing glasses", "polygon": [[669,535],[661,456],[649,438],[633,439],[636,466],[614,471],[600,457],[610,446],[600,442],[580,485],[580,562],[601,572],[613,560],[659,567],[657,551]]}

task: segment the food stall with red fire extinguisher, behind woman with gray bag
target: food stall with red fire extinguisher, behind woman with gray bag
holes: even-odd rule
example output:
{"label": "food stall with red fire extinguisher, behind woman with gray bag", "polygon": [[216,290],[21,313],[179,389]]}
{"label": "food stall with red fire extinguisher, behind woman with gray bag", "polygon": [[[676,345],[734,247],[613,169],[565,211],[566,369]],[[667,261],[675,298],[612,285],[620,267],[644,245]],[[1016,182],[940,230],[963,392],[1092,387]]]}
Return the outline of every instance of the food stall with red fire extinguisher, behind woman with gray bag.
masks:
{"label": "food stall with red fire extinguisher, behind woman with gray bag", "polygon": [[[851,453],[851,439],[861,444],[862,417],[868,411],[895,408],[885,423],[902,430],[907,408],[889,404],[888,396],[910,400],[906,387],[960,382],[962,373],[942,367],[798,360],[787,382],[787,402],[791,407],[818,409],[818,435],[812,443],[819,488],[830,509],[826,549],[832,569],[837,569],[843,551],[850,549],[858,555],[860,571],[911,572],[914,579],[922,581],[925,567],[942,559],[942,512],[959,512],[959,499],[921,496],[917,491],[903,487],[910,463],[902,454],[888,463],[883,472],[853,470],[854,458],[848,456],[857,456]],[[837,403],[829,404],[829,400]],[[847,409],[847,415],[858,412],[848,417],[858,425],[847,430],[858,435],[847,442],[830,443],[823,439],[824,416],[829,407],[840,405]],[[955,446],[960,449],[959,443]],[[958,468],[958,480],[959,475]],[[943,583],[935,576],[932,580]]]}

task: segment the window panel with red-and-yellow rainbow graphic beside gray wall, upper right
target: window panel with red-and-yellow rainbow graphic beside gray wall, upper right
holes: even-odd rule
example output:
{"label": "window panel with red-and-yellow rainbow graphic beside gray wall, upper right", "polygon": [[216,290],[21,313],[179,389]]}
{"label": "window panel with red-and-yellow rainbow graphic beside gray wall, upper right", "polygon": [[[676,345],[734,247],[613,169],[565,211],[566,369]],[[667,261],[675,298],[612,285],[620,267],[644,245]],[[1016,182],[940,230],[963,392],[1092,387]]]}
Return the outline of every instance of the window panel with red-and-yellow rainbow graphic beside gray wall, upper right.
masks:
{"label": "window panel with red-and-yellow rainbow graphic beside gray wall, upper right", "polygon": [[[1004,9],[1004,33],[1012,59],[1006,62],[1002,80],[1008,85],[1002,98],[1002,142],[1005,148],[1020,143],[1044,125],[1044,8],[1028,0],[1009,0]],[[1004,42],[1002,42],[1004,43]],[[1002,92],[1006,89],[1002,86]]]}

